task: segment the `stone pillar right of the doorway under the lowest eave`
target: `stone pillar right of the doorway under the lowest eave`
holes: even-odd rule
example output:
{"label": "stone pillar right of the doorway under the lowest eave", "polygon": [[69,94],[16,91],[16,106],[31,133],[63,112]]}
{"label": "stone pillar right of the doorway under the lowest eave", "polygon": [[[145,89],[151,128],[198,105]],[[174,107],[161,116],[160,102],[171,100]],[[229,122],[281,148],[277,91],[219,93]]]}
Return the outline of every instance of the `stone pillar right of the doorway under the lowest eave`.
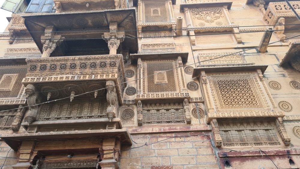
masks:
{"label": "stone pillar right of the doorway under the lowest eave", "polygon": [[[116,137],[106,137],[103,139],[102,149],[99,151],[100,153],[104,153],[101,156],[102,161],[98,162],[102,169],[119,169],[119,159],[120,159],[120,138]],[[114,152],[114,153],[110,153]]]}

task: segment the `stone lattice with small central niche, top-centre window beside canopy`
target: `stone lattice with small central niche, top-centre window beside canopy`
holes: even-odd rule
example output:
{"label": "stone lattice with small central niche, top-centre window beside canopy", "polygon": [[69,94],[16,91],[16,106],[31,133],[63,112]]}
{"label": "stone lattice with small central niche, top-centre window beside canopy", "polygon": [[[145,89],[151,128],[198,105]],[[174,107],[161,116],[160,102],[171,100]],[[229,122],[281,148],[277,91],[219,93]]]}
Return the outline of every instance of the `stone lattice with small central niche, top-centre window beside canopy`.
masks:
{"label": "stone lattice with small central niche, top-centre window beside canopy", "polygon": [[144,8],[145,23],[170,22],[166,1],[144,2]]}

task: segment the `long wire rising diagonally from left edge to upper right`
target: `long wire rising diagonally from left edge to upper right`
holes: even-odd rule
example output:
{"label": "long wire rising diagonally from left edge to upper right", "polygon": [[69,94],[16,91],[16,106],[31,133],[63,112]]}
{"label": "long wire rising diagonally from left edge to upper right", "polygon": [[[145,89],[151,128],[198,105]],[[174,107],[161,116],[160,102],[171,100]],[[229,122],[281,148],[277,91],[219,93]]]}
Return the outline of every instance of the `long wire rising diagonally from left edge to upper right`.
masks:
{"label": "long wire rising diagonally from left edge to upper right", "polygon": [[[292,36],[292,37],[290,37],[290,38],[286,38],[285,40],[291,39],[291,38],[296,38],[296,37],[299,37],[299,36],[300,36],[300,35]],[[241,51],[239,51],[239,52],[230,53],[230,54],[228,54],[228,55],[220,56],[220,57],[217,57],[217,58],[212,58],[212,59],[203,60],[203,61],[196,62],[196,63],[201,63],[201,62],[206,62],[206,61],[210,61],[210,60],[214,60],[214,59],[223,58],[223,57],[225,57],[225,56],[229,56],[229,55],[241,53],[241,52],[248,51],[248,50],[252,50],[252,49],[257,49],[257,48],[259,48],[259,47],[267,46],[267,45],[274,44],[274,43],[277,43],[277,42],[280,42],[280,41],[282,41],[282,40],[275,41],[275,42],[272,42],[272,43],[268,43],[268,44],[265,44],[265,45],[260,45],[260,46],[253,47],[253,48],[246,49],[246,50],[241,50]],[[161,71],[161,72],[159,72],[159,73],[171,71],[171,70],[178,69],[178,68],[182,68],[182,67],[186,67],[186,66],[191,66],[191,65],[194,65],[194,64],[195,64],[195,63],[190,64],[190,65],[178,66],[177,68],[172,68],[172,69],[169,69],[169,70],[166,70],[166,71]],[[159,73],[155,73],[155,74],[159,74]],[[121,85],[121,84],[123,84],[123,83],[129,83],[129,82],[133,82],[133,81],[136,81],[136,80],[140,80],[140,79],[143,79],[143,78],[146,78],[146,77],[153,76],[153,75],[155,75],[155,74],[148,75],[148,76],[145,76],[145,77],[141,77],[141,78],[138,78],[138,79],[134,79],[134,80],[131,80],[131,81],[122,82],[122,83],[119,83],[119,84],[116,84],[116,85],[113,85],[113,86],[110,86],[110,87],[115,87],[115,86],[119,86],[119,85]],[[108,87],[105,87],[105,88],[102,88],[102,89],[97,89],[97,90],[93,90],[93,91],[90,91],[90,92],[81,93],[81,94],[74,95],[74,96],[68,96],[68,97],[65,97],[65,98],[55,99],[55,100],[46,101],[46,102],[43,102],[43,103],[34,104],[34,105],[29,105],[29,106],[24,106],[24,107],[18,107],[18,108],[14,108],[14,109],[10,109],[10,110],[17,110],[17,109],[21,109],[21,108],[25,108],[25,107],[38,106],[38,105],[45,104],[45,103],[55,102],[55,101],[58,101],[58,100],[64,100],[64,99],[70,98],[70,97],[77,97],[77,96],[80,96],[80,95],[85,95],[85,94],[88,94],[88,93],[91,93],[91,92],[96,92],[96,91],[103,90],[103,89],[107,89],[107,88],[108,88]],[[10,111],[10,110],[2,110],[2,111],[0,111],[0,112]]]}

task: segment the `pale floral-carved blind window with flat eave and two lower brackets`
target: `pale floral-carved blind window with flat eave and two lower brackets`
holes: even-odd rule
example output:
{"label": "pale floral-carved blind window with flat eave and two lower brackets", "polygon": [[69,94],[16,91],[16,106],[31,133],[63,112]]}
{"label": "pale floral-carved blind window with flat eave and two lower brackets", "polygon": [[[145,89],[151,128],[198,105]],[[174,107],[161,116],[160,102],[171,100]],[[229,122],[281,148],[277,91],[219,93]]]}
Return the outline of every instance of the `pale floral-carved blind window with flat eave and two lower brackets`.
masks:
{"label": "pale floral-carved blind window with flat eave and two lower brackets", "polygon": [[[184,12],[187,23],[187,34],[193,45],[196,45],[195,34],[208,32],[234,32],[235,40],[241,43],[239,30],[229,16],[228,10],[232,2],[211,2],[198,4],[181,4],[180,11]],[[201,29],[201,27],[209,27]]]}

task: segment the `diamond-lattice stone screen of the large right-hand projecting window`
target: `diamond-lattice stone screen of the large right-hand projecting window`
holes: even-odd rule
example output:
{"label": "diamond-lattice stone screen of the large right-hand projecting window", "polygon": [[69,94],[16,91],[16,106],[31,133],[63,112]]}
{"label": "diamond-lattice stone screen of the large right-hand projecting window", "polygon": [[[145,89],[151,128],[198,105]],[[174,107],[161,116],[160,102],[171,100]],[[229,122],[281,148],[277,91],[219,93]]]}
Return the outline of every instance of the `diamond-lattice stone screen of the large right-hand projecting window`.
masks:
{"label": "diamond-lattice stone screen of the large right-hand projecting window", "polygon": [[210,78],[221,109],[264,108],[253,77],[243,75]]}

